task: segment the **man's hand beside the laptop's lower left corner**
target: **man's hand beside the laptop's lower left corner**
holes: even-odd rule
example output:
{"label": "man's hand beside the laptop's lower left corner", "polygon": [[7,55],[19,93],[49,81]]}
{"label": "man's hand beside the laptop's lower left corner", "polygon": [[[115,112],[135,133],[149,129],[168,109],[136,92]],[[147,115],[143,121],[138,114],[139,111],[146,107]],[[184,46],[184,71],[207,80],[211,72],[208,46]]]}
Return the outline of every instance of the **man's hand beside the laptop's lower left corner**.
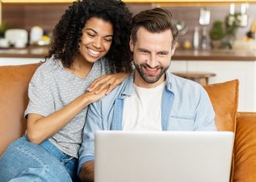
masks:
{"label": "man's hand beside the laptop's lower left corner", "polygon": [[88,161],[81,167],[79,178],[82,182],[94,182],[94,161]]}

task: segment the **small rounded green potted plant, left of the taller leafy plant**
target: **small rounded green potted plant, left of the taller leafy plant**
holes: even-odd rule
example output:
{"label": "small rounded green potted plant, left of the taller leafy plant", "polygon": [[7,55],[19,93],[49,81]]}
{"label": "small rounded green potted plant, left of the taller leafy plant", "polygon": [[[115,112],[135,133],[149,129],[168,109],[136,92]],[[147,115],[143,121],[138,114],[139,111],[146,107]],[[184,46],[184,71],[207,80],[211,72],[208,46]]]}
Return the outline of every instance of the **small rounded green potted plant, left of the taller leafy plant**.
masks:
{"label": "small rounded green potted plant, left of the taller leafy plant", "polygon": [[221,20],[216,20],[213,22],[213,27],[209,32],[209,37],[214,49],[220,48],[221,40],[224,36],[223,22]]}

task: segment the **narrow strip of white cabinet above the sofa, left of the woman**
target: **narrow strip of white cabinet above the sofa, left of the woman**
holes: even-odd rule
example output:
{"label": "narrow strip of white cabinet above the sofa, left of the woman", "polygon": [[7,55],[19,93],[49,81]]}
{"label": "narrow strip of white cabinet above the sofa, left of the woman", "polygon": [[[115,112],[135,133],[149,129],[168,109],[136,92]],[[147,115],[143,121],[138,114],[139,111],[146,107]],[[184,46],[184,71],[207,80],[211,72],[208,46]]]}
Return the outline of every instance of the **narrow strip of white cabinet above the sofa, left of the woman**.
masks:
{"label": "narrow strip of white cabinet above the sofa, left of the woman", "polygon": [[40,61],[44,61],[44,58],[0,57],[0,66],[36,64],[36,63],[39,63]]}

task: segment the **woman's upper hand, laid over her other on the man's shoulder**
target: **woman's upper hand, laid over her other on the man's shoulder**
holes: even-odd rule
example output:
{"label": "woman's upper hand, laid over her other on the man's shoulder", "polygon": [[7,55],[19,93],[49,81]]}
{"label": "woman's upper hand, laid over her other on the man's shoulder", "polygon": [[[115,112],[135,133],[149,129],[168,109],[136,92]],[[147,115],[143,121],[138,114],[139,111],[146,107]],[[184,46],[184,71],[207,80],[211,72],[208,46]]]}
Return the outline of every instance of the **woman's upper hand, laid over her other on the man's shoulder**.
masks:
{"label": "woman's upper hand, laid over her other on the man's shoulder", "polygon": [[99,94],[99,92],[101,92],[104,88],[108,88],[106,94],[109,94],[112,89],[121,84],[129,75],[130,74],[128,73],[103,75],[102,77],[99,77],[97,80],[93,81],[87,91],[94,91],[95,94]]}

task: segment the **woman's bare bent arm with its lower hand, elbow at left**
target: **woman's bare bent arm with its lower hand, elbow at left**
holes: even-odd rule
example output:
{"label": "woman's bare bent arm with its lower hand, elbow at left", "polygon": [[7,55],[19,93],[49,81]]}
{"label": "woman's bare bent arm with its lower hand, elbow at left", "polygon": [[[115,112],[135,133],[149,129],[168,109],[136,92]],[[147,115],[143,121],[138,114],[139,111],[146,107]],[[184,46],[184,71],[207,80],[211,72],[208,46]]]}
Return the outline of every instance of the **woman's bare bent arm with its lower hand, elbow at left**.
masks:
{"label": "woman's bare bent arm with its lower hand, elbow at left", "polygon": [[53,114],[43,117],[42,115],[29,114],[27,123],[27,136],[32,143],[42,143],[43,140],[53,136],[56,132],[67,125],[83,108],[94,101],[102,98],[109,88],[103,88],[98,94],[94,92],[86,92],[78,98],[71,101],[64,108]]}

